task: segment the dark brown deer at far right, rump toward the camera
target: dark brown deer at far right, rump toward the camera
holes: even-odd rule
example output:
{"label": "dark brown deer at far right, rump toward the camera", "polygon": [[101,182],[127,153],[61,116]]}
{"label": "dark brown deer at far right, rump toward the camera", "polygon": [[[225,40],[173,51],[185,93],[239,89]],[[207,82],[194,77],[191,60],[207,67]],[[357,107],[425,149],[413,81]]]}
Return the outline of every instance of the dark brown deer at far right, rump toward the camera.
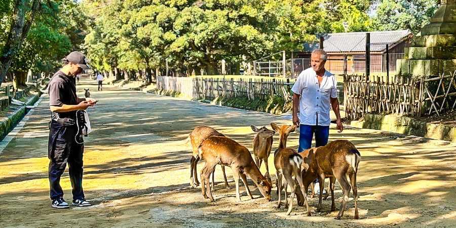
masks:
{"label": "dark brown deer at far right, rump toward the camera", "polygon": [[[355,218],[359,218],[358,213],[358,189],[356,187],[356,173],[361,159],[358,149],[348,140],[335,140],[325,146],[316,148],[309,169],[302,175],[304,192],[307,192],[309,184],[318,178],[320,182],[320,198],[318,201],[317,212],[321,210],[321,200],[325,178],[329,177],[331,191],[331,211],[335,210],[334,204],[334,184],[339,181],[344,199],[340,206],[336,219],[344,215],[345,206],[350,195],[350,185],[353,187],[353,198],[355,200]],[[350,178],[350,182],[349,179]],[[305,194],[306,195],[306,194]],[[311,216],[307,197],[305,197],[307,215]]]}

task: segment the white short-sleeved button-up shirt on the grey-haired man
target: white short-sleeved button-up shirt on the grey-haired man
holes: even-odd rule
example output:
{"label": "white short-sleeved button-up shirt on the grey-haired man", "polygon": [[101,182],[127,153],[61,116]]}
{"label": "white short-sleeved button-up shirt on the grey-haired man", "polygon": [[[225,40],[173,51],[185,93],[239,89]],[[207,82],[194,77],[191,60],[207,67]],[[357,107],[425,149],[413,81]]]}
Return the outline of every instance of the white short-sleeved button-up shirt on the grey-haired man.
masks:
{"label": "white short-sleeved button-up shirt on the grey-haired man", "polygon": [[[321,85],[318,85],[317,73],[311,67],[303,70],[291,91],[301,95],[299,101],[299,122],[304,125],[329,126],[329,97],[337,98],[337,81],[327,70]],[[318,123],[317,123],[318,119]]]}

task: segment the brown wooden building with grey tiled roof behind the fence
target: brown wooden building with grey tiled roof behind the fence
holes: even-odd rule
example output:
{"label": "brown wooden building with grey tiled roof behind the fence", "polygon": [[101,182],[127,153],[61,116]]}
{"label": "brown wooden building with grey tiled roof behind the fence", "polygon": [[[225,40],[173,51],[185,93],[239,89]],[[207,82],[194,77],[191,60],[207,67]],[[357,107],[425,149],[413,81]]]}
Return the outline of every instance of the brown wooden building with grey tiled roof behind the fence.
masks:
{"label": "brown wooden building with grey tiled roof behind the fence", "polygon": [[[404,48],[409,47],[410,30],[373,31],[370,33],[370,72],[382,74],[387,72],[386,47],[388,45],[389,71],[395,73],[396,59],[404,57]],[[334,74],[366,72],[366,32],[324,33],[323,50],[328,53],[326,69]],[[295,78],[303,69],[310,67],[311,52],[320,48],[320,43],[305,43],[303,50],[292,52],[291,72]]]}

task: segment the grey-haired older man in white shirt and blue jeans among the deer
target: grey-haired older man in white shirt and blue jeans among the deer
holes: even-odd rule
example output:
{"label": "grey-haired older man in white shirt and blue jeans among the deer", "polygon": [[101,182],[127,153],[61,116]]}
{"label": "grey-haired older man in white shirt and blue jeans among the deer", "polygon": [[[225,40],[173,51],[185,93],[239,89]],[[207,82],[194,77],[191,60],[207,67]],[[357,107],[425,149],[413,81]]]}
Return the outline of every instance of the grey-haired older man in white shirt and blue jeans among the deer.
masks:
{"label": "grey-haired older man in white shirt and blue jeans among the deer", "polygon": [[[291,91],[293,91],[293,124],[299,126],[298,152],[311,148],[315,133],[315,146],[324,146],[329,137],[329,105],[337,118],[338,132],[344,130],[340,120],[337,82],[334,75],[325,69],[328,55],[321,49],[314,50],[311,68],[303,70]],[[299,99],[300,98],[300,99]],[[299,117],[297,110],[299,105]],[[315,186],[317,187],[317,184]]]}

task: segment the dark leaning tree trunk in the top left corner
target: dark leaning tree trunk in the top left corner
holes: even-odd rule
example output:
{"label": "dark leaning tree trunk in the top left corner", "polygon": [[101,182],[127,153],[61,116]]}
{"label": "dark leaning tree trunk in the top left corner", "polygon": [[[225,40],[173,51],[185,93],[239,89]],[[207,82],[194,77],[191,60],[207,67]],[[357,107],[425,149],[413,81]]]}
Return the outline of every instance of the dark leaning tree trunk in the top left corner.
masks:
{"label": "dark leaning tree trunk in the top left corner", "polygon": [[3,79],[10,68],[11,61],[16,53],[21,48],[22,42],[30,29],[30,26],[35,18],[36,13],[40,10],[41,1],[33,0],[31,10],[25,21],[25,14],[28,1],[16,0],[14,1],[14,12],[12,15],[11,26],[8,37],[5,41],[5,46],[0,53],[0,86],[2,86]]}

